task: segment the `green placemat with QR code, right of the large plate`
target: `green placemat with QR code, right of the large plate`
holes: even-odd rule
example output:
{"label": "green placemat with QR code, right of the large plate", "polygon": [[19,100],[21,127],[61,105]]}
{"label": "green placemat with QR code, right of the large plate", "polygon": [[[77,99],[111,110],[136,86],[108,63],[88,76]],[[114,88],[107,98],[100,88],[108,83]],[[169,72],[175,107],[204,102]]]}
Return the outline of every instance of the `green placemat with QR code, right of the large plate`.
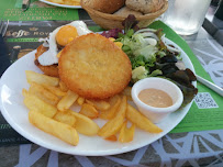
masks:
{"label": "green placemat with QR code, right of the large plate", "polygon": [[[177,43],[189,56],[196,69],[196,74],[212,81],[209,74],[203,69],[196,55],[181,36],[161,21],[154,22],[149,27],[163,29],[166,37]],[[199,90],[197,96],[198,99],[196,98],[197,102],[193,101],[186,118],[171,131],[171,133],[223,129],[223,98],[200,82],[198,82],[197,86]],[[203,102],[205,107],[199,105],[199,102]]]}

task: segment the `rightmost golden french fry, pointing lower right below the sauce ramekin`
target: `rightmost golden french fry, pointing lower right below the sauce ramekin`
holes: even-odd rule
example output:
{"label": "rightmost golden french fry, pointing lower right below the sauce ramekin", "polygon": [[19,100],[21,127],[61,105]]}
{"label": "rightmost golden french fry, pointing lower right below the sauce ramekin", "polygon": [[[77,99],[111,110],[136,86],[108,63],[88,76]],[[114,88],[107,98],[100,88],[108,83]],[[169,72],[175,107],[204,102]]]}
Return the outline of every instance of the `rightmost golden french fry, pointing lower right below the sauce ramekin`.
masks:
{"label": "rightmost golden french fry, pointing lower right below the sauce ramekin", "polygon": [[163,132],[157,125],[150,122],[145,115],[137,111],[132,105],[127,104],[126,119],[134,123],[137,127],[150,132],[150,133],[160,133]]}

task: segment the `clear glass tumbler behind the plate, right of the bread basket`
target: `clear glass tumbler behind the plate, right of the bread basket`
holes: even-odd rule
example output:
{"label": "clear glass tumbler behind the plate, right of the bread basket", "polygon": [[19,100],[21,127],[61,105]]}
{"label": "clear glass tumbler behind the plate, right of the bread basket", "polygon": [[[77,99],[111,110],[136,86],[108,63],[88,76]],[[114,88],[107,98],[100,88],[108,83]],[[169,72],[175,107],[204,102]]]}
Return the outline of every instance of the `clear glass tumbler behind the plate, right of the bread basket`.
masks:
{"label": "clear glass tumbler behind the plate, right of the bread basket", "polygon": [[180,35],[191,35],[201,27],[211,0],[169,0],[163,21]]}

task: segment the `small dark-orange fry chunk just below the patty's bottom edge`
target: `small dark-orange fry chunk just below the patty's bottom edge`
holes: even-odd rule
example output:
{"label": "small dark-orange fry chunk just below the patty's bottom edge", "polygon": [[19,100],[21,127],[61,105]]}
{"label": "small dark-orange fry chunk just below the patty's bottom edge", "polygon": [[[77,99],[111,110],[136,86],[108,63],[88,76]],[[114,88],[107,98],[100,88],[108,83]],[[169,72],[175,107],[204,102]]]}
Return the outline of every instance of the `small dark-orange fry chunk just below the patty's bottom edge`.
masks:
{"label": "small dark-orange fry chunk just below the patty's bottom edge", "polygon": [[96,108],[88,103],[82,104],[79,113],[88,116],[89,119],[97,119],[99,116],[99,112],[96,110]]}

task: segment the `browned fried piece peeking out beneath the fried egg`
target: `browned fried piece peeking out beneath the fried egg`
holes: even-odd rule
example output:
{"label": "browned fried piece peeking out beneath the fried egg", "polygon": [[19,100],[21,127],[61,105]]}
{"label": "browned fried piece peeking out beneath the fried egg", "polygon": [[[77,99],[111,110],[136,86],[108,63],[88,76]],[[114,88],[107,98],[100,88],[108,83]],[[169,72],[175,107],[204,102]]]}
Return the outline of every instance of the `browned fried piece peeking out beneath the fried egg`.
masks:
{"label": "browned fried piece peeking out beneath the fried egg", "polygon": [[43,45],[38,46],[35,53],[35,65],[47,76],[59,77],[58,75],[58,65],[42,66],[37,58],[46,52],[48,48]]}

